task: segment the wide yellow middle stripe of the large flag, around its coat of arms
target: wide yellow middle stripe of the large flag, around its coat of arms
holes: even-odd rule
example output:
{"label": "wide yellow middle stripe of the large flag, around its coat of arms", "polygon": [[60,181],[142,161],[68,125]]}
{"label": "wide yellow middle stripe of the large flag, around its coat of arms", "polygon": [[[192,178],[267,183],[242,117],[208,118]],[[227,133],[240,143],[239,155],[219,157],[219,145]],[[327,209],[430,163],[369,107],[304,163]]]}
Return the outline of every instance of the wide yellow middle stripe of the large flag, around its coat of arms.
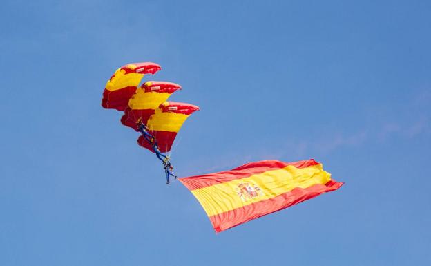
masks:
{"label": "wide yellow middle stripe of the large flag, around its coat of arms", "polygon": [[[326,184],[331,180],[331,174],[323,171],[322,164],[298,169],[291,165],[285,168],[266,171],[248,178],[241,178],[215,184],[191,191],[199,200],[208,216],[225,211],[231,211],[261,200],[274,198],[295,188],[306,189],[314,184]],[[258,188],[258,196],[241,198],[238,194],[240,184],[249,184]]]}

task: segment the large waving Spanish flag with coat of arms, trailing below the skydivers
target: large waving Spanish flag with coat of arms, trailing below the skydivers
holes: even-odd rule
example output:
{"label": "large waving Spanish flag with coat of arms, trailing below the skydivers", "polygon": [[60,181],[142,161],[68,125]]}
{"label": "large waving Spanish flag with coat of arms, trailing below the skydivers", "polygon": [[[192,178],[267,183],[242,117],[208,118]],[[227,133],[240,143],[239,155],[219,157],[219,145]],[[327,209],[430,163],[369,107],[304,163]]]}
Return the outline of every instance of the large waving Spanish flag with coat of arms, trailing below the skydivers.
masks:
{"label": "large waving Spanish flag with coat of arms, trailing below the skydivers", "polygon": [[179,179],[198,199],[216,232],[339,189],[315,160],[266,160]]}

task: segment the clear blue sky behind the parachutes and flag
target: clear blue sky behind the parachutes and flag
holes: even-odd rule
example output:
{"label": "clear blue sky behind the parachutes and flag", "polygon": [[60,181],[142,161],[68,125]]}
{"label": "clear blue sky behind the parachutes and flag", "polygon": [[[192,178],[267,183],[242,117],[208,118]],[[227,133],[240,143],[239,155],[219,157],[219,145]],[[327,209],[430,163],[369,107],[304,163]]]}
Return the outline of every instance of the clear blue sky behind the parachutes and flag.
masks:
{"label": "clear blue sky behind the parachutes and flag", "polygon": [[[5,1],[0,265],[431,265],[430,1]],[[201,110],[180,176],[314,158],[345,186],[215,234],[100,106],[119,66]]]}

